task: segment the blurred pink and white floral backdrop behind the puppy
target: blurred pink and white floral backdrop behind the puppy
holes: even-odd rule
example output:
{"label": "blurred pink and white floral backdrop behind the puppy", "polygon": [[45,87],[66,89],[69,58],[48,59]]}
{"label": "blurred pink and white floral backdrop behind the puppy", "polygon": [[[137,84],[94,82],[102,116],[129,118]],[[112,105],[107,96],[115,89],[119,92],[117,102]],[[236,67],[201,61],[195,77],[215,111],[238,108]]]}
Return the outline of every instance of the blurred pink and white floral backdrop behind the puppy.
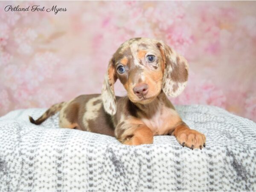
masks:
{"label": "blurred pink and white floral backdrop behind the puppy", "polygon": [[[7,5],[67,11],[5,12]],[[100,93],[111,55],[134,37],[163,40],[189,61],[189,83],[173,103],[256,121],[255,1],[1,1],[0,115]]]}

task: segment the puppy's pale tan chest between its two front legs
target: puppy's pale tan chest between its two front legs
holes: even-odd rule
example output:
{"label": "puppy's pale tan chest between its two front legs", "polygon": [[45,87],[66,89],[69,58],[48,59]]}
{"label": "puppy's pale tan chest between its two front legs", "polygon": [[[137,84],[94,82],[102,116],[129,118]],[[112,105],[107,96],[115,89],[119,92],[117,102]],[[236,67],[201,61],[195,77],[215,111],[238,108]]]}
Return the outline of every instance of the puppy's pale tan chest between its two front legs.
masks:
{"label": "puppy's pale tan chest between its two front legs", "polygon": [[174,109],[165,106],[159,106],[148,115],[142,116],[143,123],[153,131],[154,135],[168,134],[180,120]]}

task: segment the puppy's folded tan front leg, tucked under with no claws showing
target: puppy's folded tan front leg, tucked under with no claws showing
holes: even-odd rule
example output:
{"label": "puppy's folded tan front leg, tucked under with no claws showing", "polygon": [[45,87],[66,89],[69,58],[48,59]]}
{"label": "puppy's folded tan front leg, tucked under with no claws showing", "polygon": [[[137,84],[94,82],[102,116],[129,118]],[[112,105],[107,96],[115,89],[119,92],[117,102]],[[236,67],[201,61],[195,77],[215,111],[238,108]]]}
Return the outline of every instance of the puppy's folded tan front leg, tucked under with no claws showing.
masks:
{"label": "puppy's folded tan front leg, tucked under with no claws showing", "polygon": [[153,132],[143,124],[128,124],[119,141],[125,145],[141,145],[153,143]]}

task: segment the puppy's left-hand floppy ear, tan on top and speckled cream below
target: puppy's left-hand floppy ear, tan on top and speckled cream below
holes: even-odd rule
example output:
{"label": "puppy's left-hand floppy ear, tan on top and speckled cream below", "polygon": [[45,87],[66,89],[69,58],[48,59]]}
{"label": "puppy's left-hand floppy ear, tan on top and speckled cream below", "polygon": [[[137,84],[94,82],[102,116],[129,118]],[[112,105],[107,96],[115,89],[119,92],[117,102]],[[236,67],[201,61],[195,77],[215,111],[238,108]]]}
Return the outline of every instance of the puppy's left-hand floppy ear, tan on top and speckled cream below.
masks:
{"label": "puppy's left-hand floppy ear, tan on top and speckled cream below", "polygon": [[113,58],[109,61],[108,70],[102,86],[102,101],[105,111],[110,114],[116,114],[116,96],[114,92],[114,83],[116,82],[116,73]]}

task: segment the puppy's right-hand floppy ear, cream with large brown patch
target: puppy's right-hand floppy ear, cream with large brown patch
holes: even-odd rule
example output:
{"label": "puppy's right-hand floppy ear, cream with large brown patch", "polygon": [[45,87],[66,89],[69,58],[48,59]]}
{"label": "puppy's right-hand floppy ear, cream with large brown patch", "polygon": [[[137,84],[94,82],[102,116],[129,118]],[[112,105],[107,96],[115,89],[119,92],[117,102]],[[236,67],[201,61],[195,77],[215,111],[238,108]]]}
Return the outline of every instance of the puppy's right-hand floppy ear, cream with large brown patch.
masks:
{"label": "puppy's right-hand floppy ear, cream with large brown patch", "polygon": [[189,66],[186,59],[177,54],[162,41],[157,43],[164,61],[164,74],[162,89],[166,95],[178,96],[186,87]]}

